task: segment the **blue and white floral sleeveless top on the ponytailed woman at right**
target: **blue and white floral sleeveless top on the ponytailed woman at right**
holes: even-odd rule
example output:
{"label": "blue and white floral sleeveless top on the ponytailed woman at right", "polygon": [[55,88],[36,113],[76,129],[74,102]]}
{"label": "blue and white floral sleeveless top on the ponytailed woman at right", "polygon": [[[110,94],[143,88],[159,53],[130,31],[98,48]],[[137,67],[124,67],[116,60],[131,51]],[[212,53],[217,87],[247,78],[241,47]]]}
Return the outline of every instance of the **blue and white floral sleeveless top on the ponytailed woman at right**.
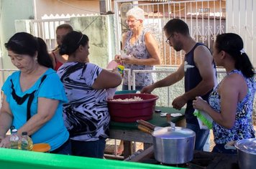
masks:
{"label": "blue and white floral sleeveless top on the ponytailed woman at right", "polygon": [[[227,76],[233,73],[241,74],[244,77],[242,72],[236,69],[229,72]],[[255,130],[252,126],[253,99],[256,90],[255,77],[244,77],[244,79],[247,82],[248,92],[244,99],[238,102],[234,126],[231,129],[227,129],[218,123],[213,122],[214,142],[216,144],[225,144],[229,141],[255,137]],[[209,104],[215,111],[221,113],[221,97],[217,92],[218,89],[219,84],[214,91],[211,92]]]}

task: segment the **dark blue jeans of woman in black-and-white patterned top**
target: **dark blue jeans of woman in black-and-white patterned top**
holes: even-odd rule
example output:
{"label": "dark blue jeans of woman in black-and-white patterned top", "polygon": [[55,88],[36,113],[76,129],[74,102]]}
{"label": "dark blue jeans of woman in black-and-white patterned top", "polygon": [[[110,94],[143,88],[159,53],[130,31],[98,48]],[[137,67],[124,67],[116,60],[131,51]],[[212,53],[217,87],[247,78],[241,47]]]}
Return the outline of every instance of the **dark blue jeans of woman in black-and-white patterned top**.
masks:
{"label": "dark blue jeans of woman in black-and-white patterned top", "polygon": [[83,156],[88,158],[103,158],[106,147],[106,140],[96,141],[78,141],[71,140],[72,155]]}

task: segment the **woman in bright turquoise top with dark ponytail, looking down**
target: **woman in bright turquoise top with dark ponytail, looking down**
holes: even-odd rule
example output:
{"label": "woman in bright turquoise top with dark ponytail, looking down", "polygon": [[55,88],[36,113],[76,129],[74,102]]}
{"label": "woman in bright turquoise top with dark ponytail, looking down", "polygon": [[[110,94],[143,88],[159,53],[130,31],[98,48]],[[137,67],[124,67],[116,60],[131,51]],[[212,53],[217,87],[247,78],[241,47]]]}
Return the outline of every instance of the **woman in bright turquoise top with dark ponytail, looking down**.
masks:
{"label": "woman in bright turquoise top with dark ponytail, looking down", "polygon": [[19,71],[4,82],[0,112],[0,147],[6,148],[13,126],[18,135],[27,132],[33,143],[48,143],[50,153],[70,154],[69,133],[63,121],[63,84],[52,69],[45,42],[32,34],[19,32],[5,44]]}

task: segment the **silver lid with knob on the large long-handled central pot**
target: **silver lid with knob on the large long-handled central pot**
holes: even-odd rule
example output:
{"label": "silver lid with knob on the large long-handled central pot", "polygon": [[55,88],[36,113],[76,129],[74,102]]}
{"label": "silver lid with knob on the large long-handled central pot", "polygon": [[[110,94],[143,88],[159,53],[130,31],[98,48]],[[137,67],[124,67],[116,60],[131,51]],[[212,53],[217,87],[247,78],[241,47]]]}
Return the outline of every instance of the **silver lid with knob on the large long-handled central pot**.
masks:
{"label": "silver lid with knob on the large long-handled central pot", "polygon": [[188,137],[196,137],[196,133],[193,132],[193,130],[184,127],[163,127],[159,130],[155,130],[152,135],[162,139],[183,139]]}

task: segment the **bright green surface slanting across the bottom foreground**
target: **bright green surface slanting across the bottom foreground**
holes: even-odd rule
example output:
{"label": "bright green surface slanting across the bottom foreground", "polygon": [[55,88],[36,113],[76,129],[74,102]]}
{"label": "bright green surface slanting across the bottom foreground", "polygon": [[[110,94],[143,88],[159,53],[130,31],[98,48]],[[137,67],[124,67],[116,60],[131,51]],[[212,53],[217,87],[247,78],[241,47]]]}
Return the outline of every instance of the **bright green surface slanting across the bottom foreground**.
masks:
{"label": "bright green surface slanting across the bottom foreground", "polygon": [[174,167],[0,148],[1,169],[170,169]]}

